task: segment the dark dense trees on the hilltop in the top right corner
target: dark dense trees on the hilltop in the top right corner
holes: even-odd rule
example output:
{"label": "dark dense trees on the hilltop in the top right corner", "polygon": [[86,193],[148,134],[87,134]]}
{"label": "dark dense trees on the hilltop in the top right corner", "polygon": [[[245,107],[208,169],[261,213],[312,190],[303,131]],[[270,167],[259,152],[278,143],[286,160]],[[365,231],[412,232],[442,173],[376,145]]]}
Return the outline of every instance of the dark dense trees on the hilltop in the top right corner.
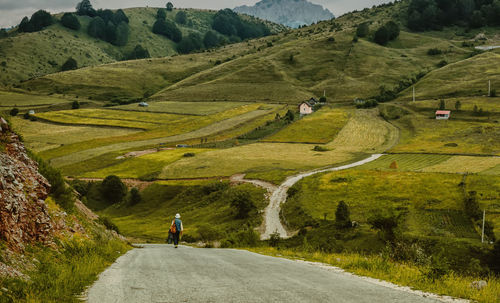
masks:
{"label": "dark dense trees on the hilltop in the top right corner", "polygon": [[450,25],[500,25],[500,0],[411,0],[410,29],[440,30]]}

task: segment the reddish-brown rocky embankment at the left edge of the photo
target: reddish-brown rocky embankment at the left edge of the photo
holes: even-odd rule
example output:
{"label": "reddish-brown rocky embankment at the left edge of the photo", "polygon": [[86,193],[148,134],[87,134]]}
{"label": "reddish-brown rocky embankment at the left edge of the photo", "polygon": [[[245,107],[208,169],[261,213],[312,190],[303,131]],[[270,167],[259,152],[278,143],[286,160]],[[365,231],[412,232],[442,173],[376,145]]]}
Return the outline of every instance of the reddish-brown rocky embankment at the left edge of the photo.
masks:
{"label": "reddish-brown rocky embankment at the left edge of the photo", "polygon": [[0,118],[0,239],[10,249],[51,242],[53,222],[44,202],[49,190],[18,135]]}

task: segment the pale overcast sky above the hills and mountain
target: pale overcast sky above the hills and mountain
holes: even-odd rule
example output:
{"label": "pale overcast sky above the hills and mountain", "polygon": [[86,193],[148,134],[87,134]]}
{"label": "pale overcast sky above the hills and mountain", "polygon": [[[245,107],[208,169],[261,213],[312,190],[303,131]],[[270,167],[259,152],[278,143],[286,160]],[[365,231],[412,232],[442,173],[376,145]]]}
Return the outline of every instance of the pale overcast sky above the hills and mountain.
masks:
{"label": "pale overcast sky above the hills and mountain", "polygon": [[[19,24],[24,16],[31,16],[39,9],[52,13],[74,11],[81,0],[0,0],[0,27]],[[258,0],[170,0],[176,7],[192,8],[234,8],[239,5],[253,5]],[[322,4],[335,16],[355,9],[371,7],[388,0],[310,0]],[[94,8],[127,8],[139,6],[164,7],[168,0],[91,0]]]}

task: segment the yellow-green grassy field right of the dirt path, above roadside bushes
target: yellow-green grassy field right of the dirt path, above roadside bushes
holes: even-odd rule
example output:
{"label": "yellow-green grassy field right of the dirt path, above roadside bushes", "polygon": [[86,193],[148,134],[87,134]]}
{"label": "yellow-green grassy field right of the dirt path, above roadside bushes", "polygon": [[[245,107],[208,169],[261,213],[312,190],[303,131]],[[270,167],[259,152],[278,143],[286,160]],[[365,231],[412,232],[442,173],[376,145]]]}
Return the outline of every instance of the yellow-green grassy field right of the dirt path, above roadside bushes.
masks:
{"label": "yellow-green grassy field right of the dirt path, above roadside bushes", "polygon": [[[299,190],[284,205],[284,214],[292,227],[304,224],[304,218],[332,220],[339,201],[345,201],[351,219],[366,224],[368,217],[381,209],[407,212],[404,231],[417,237],[454,237],[480,240],[471,221],[463,212],[463,193],[458,184],[462,175],[439,173],[350,170],[306,178],[296,185]],[[485,185],[481,185],[481,183]],[[470,175],[467,191],[477,191],[481,207],[498,212],[500,176]],[[439,191],[436,190],[439,188]],[[302,210],[303,214],[300,215]],[[305,214],[305,215],[304,215]],[[495,226],[498,218],[489,216]],[[500,228],[496,227],[497,235]]]}

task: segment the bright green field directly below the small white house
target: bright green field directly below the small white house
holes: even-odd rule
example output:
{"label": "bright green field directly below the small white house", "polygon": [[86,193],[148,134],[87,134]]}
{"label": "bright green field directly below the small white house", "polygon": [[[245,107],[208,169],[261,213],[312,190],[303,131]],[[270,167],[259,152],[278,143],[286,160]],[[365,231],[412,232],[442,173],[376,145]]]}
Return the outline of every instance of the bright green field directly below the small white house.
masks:
{"label": "bright green field directly below the small white house", "polygon": [[349,115],[343,110],[322,108],[262,141],[328,143],[337,136],[348,120]]}

